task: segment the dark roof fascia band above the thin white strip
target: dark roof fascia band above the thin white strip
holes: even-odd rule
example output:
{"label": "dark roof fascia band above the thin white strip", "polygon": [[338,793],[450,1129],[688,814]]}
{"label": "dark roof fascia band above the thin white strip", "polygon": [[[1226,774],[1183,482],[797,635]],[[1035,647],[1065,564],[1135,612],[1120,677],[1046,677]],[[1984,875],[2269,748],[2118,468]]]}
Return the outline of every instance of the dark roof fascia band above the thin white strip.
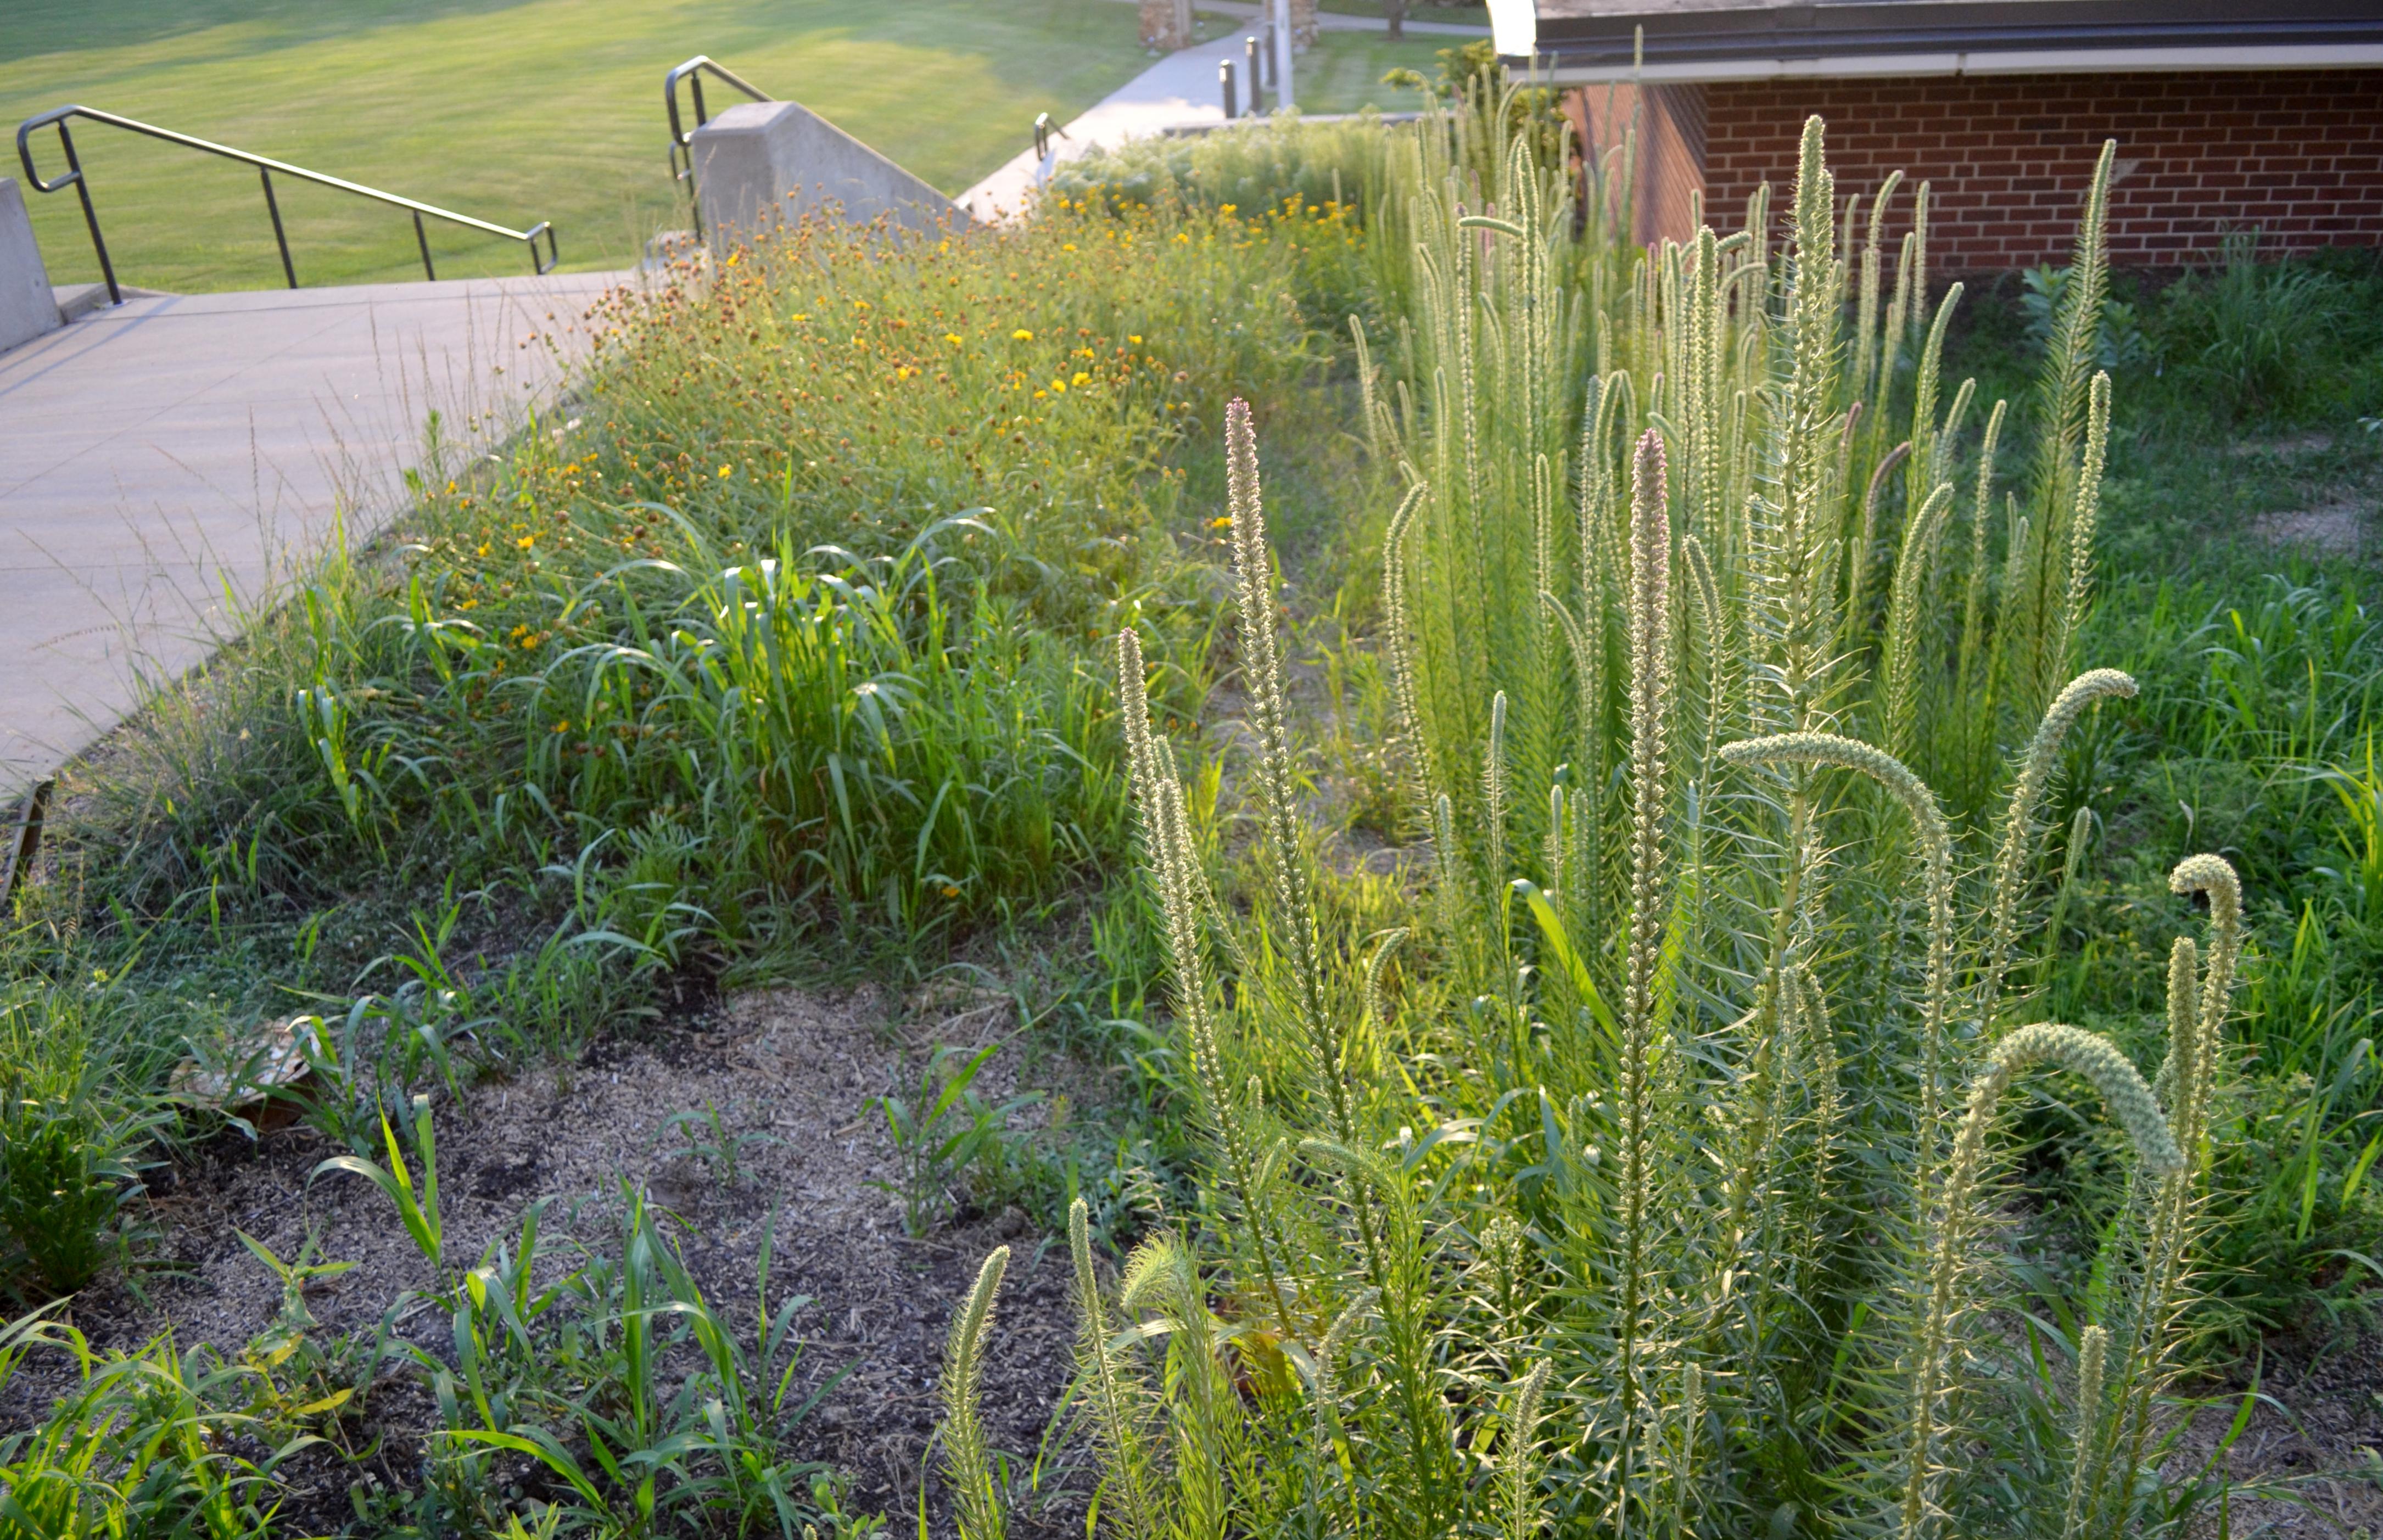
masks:
{"label": "dark roof fascia band above the thin white strip", "polygon": [[[2195,55],[2230,48],[2357,48],[2364,55],[2383,45],[2378,0],[2297,0],[2271,7],[2285,12],[2281,17],[2252,14],[2252,5],[2221,7],[2190,0],[1856,0],[1711,10],[1630,5],[1630,0],[1620,5],[1539,0],[1535,10],[1532,52],[1561,72],[1628,69],[1635,57],[1673,74],[1682,67],[1752,60],[2140,55],[2171,48],[2188,48]],[[1640,55],[1640,29],[1644,29],[1644,55]]]}

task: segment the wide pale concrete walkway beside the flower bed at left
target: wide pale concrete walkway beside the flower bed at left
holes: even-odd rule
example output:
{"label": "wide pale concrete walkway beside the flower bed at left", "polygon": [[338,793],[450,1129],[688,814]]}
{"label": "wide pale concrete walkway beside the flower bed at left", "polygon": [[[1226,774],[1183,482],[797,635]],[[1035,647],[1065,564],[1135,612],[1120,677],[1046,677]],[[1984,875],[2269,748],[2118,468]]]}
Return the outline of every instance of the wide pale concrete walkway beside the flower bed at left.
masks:
{"label": "wide pale concrete walkway beside the flower bed at left", "polygon": [[631,274],[136,298],[0,353],[0,796],[403,503],[424,420],[486,451]]}

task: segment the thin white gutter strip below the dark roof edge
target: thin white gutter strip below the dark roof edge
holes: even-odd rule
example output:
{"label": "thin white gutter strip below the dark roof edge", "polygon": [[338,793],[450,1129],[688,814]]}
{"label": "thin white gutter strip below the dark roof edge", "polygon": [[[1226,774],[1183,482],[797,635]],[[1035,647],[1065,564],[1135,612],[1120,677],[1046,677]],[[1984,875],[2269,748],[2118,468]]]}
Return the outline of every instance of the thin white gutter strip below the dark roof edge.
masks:
{"label": "thin white gutter strip below the dark roof edge", "polygon": [[[1497,50],[1530,57],[1537,41],[1532,0],[1489,0]],[[1506,12],[1520,10],[1525,29],[1508,45]],[[2383,43],[2276,43],[2266,48],[2047,48],[1997,52],[1873,52],[1818,60],[1697,60],[1680,64],[1542,64],[1539,79],[1563,86],[1606,81],[1794,81],[1866,74],[2154,74],[2169,69],[2373,69]]]}

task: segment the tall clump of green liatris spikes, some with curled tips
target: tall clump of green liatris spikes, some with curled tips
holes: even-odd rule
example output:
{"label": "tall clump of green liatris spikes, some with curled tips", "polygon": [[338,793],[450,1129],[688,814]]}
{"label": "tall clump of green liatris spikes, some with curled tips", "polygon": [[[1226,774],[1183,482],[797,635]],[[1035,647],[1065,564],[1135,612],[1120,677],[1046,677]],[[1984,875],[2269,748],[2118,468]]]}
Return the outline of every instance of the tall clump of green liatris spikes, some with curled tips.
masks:
{"label": "tall clump of green liatris spikes, some with curled tips", "polygon": [[[2061,687],[2109,429],[2097,281],[2002,515],[2009,405],[1961,465],[1973,391],[1937,379],[1959,291],[1928,312],[1914,229],[1880,312],[1894,188],[1840,234],[1818,119],[1785,250],[1763,193],[1737,231],[1637,255],[1506,122],[1425,119],[1368,210],[1411,236],[1413,324],[1365,355],[1363,431],[1404,482],[1387,651],[1432,892],[1375,939],[1330,908],[1244,412],[1249,906],[1213,889],[1120,639],[1208,1159],[1203,1223],[1113,1304],[1077,1237],[1099,1521],[2130,1533],[2161,1485],[2240,896],[2214,856],[2176,873],[2211,958],[2178,949],[2157,1089],[2102,1037],[2006,1025],[2061,737],[2133,694]],[[2023,1430],[2049,1380],[1985,1330],[2023,1070],[2090,1085],[2133,1151],[2066,1449]]]}

